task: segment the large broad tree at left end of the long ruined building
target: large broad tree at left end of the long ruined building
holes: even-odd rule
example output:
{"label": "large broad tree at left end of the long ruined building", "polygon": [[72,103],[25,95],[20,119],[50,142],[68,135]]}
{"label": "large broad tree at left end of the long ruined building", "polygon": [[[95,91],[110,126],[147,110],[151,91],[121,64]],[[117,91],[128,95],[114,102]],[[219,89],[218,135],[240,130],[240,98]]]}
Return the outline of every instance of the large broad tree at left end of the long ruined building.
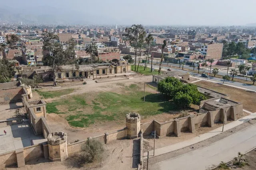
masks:
{"label": "large broad tree at left end of the long ruined building", "polygon": [[68,64],[77,64],[74,52],[74,41],[70,40],[66,44],[66,49],[58,43],[58,36],[54,33],[45,32],[43,36],[43,63],[52,68],[53,86],[57,85],[56,70],[58,66]]}

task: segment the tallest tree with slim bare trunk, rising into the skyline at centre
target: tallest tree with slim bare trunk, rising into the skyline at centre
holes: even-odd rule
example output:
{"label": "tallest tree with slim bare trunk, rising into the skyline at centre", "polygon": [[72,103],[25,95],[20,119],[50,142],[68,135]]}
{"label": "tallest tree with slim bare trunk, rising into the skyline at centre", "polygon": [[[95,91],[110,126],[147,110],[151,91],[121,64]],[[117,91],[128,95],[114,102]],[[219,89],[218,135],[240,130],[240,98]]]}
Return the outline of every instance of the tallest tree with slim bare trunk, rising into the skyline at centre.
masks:
{"label": "tallest tree with slim bare trunk, rising into the skyline at centre", "polygon": [[135,62],[134,62],[134,70],[136,70],[136,60],[137,60],[137,49],[139,47],[139,43],[141,39],[144,39],[146,32],[144,30],[144,27],[142,25],[132,25],[132,27],[127,27],[125,29],[126,38],[130,42],[130,45],[132,45],[135,49]]}

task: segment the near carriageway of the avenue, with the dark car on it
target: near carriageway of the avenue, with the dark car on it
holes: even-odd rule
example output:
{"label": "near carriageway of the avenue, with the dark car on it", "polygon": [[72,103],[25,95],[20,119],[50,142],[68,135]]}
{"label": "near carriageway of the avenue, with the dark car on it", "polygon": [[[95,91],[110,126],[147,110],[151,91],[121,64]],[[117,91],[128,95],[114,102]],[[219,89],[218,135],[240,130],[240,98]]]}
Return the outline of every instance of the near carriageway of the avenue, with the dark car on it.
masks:
{"label": "near carriageway of the avenue, with the dark car on it", "polygon": [[[148,67],[150,67],[150,64],[148,64]],[[158,69],[159,66],[158,65],[153,65],[153,68],[154,69]],[[169,67],[162,66],[162,70],[167,70],[168,68]],[[179,70],[179,69],[176,69],[176,68],[171,68],[171,70],[176,70],[176,71],[180,71],[180,72],[184,72],[184,73],[189,72],[189,71],[186,71],[186,70]],[[201,74],[197,74],[197,73],[194,73],[194,72],[189,72],[189,73],[190,73],[191,76],[207,80],[207,78],[201,77]],[[209,76],[208,80],[212,80],[212,81],[215,81],[215,82],[223,83],[223,79],[221,79],[221,78],[216,78],[216,77]],[[250,90],[256,90],[256,86],[253,86],[253,85],[250,85],[250,84],[244,84],[244,83],[234,82],[234,81],[230,81],[230,80],[228,80],[228,81],[225,80],[224,83],[225,84],[230,84],[232,86],[241,87],[241,88],[247,88],[247,89],[250,89]]]}

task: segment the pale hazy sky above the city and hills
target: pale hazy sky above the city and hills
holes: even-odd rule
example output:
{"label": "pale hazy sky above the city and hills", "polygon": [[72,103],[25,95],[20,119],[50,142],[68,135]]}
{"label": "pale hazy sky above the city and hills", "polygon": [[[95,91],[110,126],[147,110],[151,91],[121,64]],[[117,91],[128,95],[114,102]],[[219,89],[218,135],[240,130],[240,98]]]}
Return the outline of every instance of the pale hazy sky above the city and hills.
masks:
{"label": "pale hazy sky above the city and hills", "polygon": [[[81,24],[245,25],[256,0],[0,0],[28,15],[58,15]],[[49,17],[50,17],[49,16]],[[69,17],[67,17],[69,16]]]}

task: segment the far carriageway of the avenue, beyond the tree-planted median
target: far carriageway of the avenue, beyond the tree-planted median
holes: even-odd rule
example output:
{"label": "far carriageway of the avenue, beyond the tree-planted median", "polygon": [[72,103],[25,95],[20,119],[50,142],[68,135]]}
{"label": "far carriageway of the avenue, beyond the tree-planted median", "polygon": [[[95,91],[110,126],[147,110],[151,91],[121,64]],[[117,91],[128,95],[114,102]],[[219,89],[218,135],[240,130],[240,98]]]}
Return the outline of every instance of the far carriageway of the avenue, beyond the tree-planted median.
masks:
{"label": "far carriageway of the avenue, beyond the tree-planted median", "polygon": [[[151,62],[150,62],[151,63]],[[156,64],[156,63],[160,63],[160,61],[154,61],[153,60],[153,64]],[[167,64],[167,63],[163,63],[163,64]],[[169,65],[172,65],[172,66],[180,66],[179,64],[174,64],[174,63],[168,63]],[[182,66],[181,66],[182,67]],[[190,70],[193,70],[193,67],[192,66],[188,66],[188,65],[184,65],[184,68],[187,68],[187,69],[190,69]],[[214,68],[214,66],[212,66],[212,69]],[[234,69],[234,68],[232,68],[232,69]],[[197,67],[195,67],[195,70],[197,70]],[[231,70],[231,68],[229,69],[229,70]],[[238,70],[238,68],[236,68],[236,70]],[[209,68],[201,68],[200,69],[200,71],[205,71],[206,73],[208,73],[208,71],[209,71]],[[212,72],[212,71],[211,71]],[[219,70],[219,73],[218,73],[219,75],[222,75],[222,76],[225,76],[225,75],[227,75],[227,70]],[[229,76],[230,76],[230,74],[228,74]],[[242,80],[246,80],[246,77],[241,77],[241,76],[234,76],[234,78],[239,78],[239,79],[242,79]],[[247,79],[248,81],[250,81],[251,82],[251,80],[250,80],[250,77],[248,77],[248,79]]]}

